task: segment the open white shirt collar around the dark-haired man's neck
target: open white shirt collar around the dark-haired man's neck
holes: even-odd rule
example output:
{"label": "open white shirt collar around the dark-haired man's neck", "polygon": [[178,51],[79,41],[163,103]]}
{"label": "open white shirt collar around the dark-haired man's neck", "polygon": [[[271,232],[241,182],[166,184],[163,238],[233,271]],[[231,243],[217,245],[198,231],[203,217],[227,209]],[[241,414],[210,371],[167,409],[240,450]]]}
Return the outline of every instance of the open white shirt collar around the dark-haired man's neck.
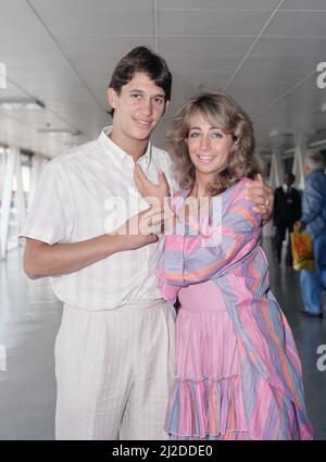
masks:
{"label": "open white shirt collar around the dark-haired man's neck", "polygon": [[[104,127],[99,136],[99,141],[104,148],[108,154],[114,153],[114,161],[121,166],[134,165],[134,159],[127,152],[125,152],[120,146],[117,146],[111,138],[109,138],[110,133],[112,132],[112,125]],[[143,171],[146,171],[152,159],[152,145],[149,141],[146,153],[141,155],[138,160],[139,165]]]}

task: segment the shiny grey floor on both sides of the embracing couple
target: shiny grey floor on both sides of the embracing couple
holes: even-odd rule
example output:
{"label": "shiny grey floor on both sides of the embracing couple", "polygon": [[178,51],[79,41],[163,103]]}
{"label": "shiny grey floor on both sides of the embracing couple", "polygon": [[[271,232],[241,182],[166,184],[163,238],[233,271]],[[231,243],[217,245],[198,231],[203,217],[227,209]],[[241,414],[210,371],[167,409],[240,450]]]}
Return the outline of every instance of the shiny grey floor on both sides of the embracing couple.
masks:
{"label": "shiny grey floor on both sides of the embracing couple", "polygon": [[[315,439],[326,439],[326,371],[316,366],[319,345],[326,345],[326,319],[300,315],[298,273],[277,266],[271,241],[264,247],[271,262],[271,285],[301,355],[306,403]],[[21,250],[0,262],[0,346],[7,348],[7,372],[0,371],[0,439],[53,439],[55,382],[53,344],[61,303],[49,279],[28,280]],[[1,362],[0,362],[1,364]]]}

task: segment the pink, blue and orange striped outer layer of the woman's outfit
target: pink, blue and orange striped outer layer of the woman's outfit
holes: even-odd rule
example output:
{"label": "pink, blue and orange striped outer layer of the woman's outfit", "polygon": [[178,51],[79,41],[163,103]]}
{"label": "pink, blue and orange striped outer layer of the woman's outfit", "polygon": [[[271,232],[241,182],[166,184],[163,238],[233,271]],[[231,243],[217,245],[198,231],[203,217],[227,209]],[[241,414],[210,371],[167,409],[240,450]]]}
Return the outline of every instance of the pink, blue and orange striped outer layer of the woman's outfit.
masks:
{"label": "pink, blue and orange striped outer layer of the woman's outfit", "polygon": [[[220,245],[211,246],[212,235],[195,235],[191,227],[165,236],[158,269],[162,295],[174,303],[180,288],[212,280],[237,337],[249,438],[312,439],[300,359],[288,322],[269,289],[268,263],[259,245],[261,216],[244,199],[247,182],[242,178],[220,196]],[[176,211],[188,192],[183,190],[175,198]],[[172,400],[176,400],[175,394]],[[177,402],[174,407],[177,409]],[[196,414],[196,409],[192,412]],[[183,416],[174,413],[170,424],[177,433]]]}

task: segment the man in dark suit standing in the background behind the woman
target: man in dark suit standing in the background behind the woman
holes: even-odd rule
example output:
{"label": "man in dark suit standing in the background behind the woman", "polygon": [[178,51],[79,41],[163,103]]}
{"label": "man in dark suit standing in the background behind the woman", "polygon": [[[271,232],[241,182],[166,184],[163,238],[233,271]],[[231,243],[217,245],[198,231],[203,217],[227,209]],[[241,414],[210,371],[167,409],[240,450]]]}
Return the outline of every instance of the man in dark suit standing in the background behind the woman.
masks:
{"label": "man in dark suit standing in the background behind the woman", "polygon": [[[278,263],[281,262],[281,247],[287,230],[292,233],[294,223],[301,216],[301,198],[299,191],[293,188],[296,176],[292,173],[284,175],[284,183],[275,189],[274,195],[274,225],[276,227],[275,245]],[[292,265],[291,242],[289,239],[286,263]]]}

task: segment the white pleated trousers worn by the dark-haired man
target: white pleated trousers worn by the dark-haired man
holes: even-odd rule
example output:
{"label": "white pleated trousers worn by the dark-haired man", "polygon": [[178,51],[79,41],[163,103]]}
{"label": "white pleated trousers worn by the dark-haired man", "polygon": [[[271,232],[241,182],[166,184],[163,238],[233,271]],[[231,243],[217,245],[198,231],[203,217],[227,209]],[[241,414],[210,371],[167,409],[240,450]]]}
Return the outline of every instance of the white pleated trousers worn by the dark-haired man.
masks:
{"label": "white pleated trousers worn by the dark-haired man", "polygon": [[163,300],[111,311],[65,304],[54,348],[57,439],[166,439],[174,323]]}

